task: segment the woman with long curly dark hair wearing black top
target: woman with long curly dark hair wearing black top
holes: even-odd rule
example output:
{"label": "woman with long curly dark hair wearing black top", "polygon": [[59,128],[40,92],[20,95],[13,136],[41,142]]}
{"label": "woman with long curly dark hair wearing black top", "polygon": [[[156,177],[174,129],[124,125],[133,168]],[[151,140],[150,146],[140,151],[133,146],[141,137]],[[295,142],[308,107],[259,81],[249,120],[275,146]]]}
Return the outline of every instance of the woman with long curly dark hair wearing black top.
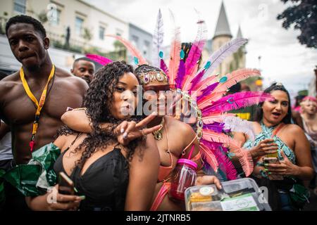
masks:
{"label": "woman with long curly dark hair wearing black top", "polygon": [[[134,127],[146,124],[130,116],[137,106],[139,85],[132,72],[130,65],[121,62],[98,70],[84,101],[93,131],[78,134],[64,127],[54,142],[61,149],[54,165],[56,174],[68,174],[85,199],[58,193],[57,203],[48,203],[48,193],[27,198],[32,210],[149,210],[159,172],[154,138],[141,136],[123,146],[116,135],[123,120],[130,120],[128,125]],[[101,129],[104,122],[109,125]]]}

